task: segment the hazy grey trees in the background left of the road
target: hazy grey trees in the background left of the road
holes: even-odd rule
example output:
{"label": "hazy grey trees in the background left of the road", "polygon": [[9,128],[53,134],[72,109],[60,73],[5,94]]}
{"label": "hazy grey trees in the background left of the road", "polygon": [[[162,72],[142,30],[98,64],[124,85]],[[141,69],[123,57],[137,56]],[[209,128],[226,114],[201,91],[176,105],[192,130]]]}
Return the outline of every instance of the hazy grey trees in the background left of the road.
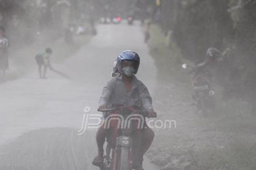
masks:
{"label": "hazy grey trees in the background left of the road", "polygon": [[[47,32],[56,39],[81,15],[99,11],[100,0],[0,0],[0,25],[4,26],[12,46],[35,42],[37,33]],[[46,35],[47,35],[46,34]]]}

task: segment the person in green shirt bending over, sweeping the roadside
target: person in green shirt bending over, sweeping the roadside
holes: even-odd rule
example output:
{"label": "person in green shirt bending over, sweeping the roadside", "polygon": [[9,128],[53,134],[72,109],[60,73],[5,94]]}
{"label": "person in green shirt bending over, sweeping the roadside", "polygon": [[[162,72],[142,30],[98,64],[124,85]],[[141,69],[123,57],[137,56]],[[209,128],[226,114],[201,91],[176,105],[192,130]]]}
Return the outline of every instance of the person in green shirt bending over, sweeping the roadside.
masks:
{"label": "person in green shirt bending over, sweeping the roadside", "polygon": [[[51,48],[46,48],[45,52],[40,53],[35,56],[36,63],[38,65],[39,70],[39,76],[42,79],[46,79],[46,71],[47,68],[50,66],[50,55],[53,53],[53,50]],[[42,76],[42,66],[44,66],[44,73]]]}

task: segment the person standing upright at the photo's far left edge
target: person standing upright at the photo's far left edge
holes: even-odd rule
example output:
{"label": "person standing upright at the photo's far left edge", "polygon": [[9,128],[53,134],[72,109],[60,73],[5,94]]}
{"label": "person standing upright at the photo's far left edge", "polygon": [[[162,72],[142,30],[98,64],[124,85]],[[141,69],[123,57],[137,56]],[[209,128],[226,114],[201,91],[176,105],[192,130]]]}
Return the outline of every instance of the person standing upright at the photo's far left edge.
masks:
{"label": "person standing upright at the photo's far left edge", "polygon": [[8,47],[9,40],[5,35],[5,29],[0,26],[0,81],[5,81],[6,70],[9,68]]}

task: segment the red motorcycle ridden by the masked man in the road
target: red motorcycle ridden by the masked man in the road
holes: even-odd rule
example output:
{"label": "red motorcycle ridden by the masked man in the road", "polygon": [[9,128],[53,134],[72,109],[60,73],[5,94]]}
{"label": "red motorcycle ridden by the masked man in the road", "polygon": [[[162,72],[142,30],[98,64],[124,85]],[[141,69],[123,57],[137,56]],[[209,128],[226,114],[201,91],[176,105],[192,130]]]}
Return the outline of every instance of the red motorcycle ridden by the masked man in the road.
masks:
{"label": "red motorcycle ridden by the masked man in the road", "polygon": [[132,134],[144,127],[148,113],[128,107],[98,111],[104,113],[104,126],[109,129],[106,155],[100,170],[132,170]]}

